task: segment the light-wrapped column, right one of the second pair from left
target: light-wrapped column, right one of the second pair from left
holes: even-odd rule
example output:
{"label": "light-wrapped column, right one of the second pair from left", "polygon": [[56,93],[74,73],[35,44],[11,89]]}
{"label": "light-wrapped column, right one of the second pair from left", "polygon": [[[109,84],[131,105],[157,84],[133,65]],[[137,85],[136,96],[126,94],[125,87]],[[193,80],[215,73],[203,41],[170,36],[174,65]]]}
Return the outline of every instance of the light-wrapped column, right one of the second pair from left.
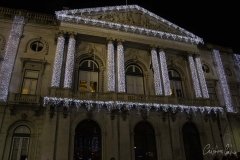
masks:
{"label": "light-wrapped column, right one of the second pair from left", "polygon": [[118,92],[125,92],[124,48],[122,42],[117,45]]}

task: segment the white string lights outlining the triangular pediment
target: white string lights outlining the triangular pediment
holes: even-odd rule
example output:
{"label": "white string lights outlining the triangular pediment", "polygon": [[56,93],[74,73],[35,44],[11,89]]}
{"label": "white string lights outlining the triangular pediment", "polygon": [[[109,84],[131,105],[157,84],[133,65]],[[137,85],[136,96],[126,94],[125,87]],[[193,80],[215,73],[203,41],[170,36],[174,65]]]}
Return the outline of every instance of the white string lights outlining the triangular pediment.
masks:
{"label": "white string lights outlining the triangular pediment", "polygon": [[[105,12],[128,11],[128,10],[142,11],[144,14],[147,14],[150,17],[153,17],[157,21],[160,21],[160,22],[164,23],[165,25],[168,25],[169,27],[174,28],[175,30],[178,30],[181,34],[184,34],[186,36],[141,28],[141,27],[137,27],[137,26],[130,26],[130,25],[124,25],[124,24],[119,24],[119,23],[107,22],[107,21],[103,21],[103,20],[93,19],[93,17],[91,19],[87,18],[91,14],[104,14]],[[179,26],[177,26],[177,25],[153,14],[152,12],[149,12],[146,9],[137,6],[137,5],[63,10],[63,11],[57,11],[55,13],[56,13],[57,19],[60,21],[101,26],[101,27],[105,27],[105,28],[117,29],[117,30],[122,30],[122,31],[126,31],[126,32],[140,33],[140,34],[155,36],[155,37],[159,37],[159,38],[163,38],[163,39],[164,38],[172,39],[175,41],[182,41],[182,42],[187,42],[187,43],[195,43],[195,44],[203,43],[203,40],[200,37],[190,33],[189,31],[184,30],[183,28],[180,28]]]}

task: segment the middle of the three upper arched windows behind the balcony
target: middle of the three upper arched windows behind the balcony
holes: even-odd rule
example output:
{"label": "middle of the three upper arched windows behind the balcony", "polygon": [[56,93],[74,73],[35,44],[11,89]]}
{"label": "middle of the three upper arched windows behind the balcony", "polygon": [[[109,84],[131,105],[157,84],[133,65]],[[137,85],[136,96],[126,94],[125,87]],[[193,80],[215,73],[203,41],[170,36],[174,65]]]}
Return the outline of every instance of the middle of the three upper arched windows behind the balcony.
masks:
{"label": "middle of the three upper arched windows behind the balcony", "polygon": [[129,65],[126,69],[127,93],[144,94],[143,72],[137,65]]}

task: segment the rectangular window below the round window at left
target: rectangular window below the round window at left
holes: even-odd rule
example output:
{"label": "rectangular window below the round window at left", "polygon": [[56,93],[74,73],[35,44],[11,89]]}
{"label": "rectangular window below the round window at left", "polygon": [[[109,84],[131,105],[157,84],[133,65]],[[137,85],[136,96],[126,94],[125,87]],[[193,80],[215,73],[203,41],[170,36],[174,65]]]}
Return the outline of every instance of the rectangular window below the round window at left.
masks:
{"label": "rectangular window below the round window at left", "polygon": [[22,84],[22,94],[36,94],[38,77],[39,71],[25,70]]}

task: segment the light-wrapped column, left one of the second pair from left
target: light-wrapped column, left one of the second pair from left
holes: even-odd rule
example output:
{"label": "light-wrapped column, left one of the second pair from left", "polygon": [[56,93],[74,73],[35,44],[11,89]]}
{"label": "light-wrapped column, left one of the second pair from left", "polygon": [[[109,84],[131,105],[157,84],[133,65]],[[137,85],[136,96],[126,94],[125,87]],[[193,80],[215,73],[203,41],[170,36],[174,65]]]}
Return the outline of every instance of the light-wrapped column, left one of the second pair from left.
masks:
{"label": "light-wrapped column, left one of the second pair from left", "polygon": [[107,46],[107,89],[115,91],[115,70],[114,70],[114,45],[112,41]]}

